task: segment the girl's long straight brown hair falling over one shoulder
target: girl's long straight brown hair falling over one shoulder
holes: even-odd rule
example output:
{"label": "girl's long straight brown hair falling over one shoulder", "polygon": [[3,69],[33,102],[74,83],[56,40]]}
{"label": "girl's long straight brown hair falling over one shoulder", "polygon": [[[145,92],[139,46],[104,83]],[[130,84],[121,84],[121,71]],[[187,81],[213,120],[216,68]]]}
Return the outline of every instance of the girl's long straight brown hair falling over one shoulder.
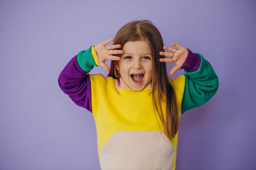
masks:
{"label": "girl's long straight brown hair falling over one shoulder", "polygon": [[[152,97],[155,110],[164,126],[166,136],[171,141],[179,127],[179,109],[175,92],[168,81],[166,63],[160,62],[164,58],[159,54],[163,50],[163,39],[158,29],[148,20],[132,21],[122,26],[117,32],[113,44],[121,44],[121,48],[128,41],[146,41],[153,54]],[[119,79],[117,71],[118,61],[111,61],[108,76]],[[166,102],[166,118],[164,118],[161,101]]]}

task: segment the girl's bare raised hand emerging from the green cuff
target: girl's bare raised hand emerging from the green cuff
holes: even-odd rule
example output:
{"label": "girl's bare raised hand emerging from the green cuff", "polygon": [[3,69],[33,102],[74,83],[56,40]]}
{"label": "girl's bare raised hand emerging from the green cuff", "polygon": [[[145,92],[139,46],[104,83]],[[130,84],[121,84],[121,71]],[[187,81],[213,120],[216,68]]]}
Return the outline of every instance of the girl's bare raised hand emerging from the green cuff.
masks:
{"label": "girl's bare raised hand emerging from the green cuff", "polygon": [[108,65],[105,64],[107,60],[120,60],[120,57],[115,56],[115,54],[123,54],[123,50],[115,50],[117,48],[120,48],[120,44],[106,46],[110,42],[114,41],[114,39],[108,39],[106,41],[103,41],[96,46],[94,46],[94,50],[97,53],[99,65],[104,68],[107,72],[110,70]]}

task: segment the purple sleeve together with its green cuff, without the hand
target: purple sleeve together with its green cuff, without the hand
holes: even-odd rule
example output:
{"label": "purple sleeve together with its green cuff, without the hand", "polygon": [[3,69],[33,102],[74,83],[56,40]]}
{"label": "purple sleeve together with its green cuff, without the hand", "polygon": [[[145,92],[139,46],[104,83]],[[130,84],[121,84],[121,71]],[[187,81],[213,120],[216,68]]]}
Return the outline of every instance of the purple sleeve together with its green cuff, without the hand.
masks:
{"label": "purple sleeve together with its green cuff, without the hand", "polygon": [[[92,111],[92,105],[90,76],[87,73],[96,65],[91,54],[91,48],[81,51],[73,57],[58,77],[58,84],[63,92],[76,105],[84,107],[88,111]],[[84,62],[81,62],[81,59]],[[78,61],[84,63],[84,65],[79,65]]]}

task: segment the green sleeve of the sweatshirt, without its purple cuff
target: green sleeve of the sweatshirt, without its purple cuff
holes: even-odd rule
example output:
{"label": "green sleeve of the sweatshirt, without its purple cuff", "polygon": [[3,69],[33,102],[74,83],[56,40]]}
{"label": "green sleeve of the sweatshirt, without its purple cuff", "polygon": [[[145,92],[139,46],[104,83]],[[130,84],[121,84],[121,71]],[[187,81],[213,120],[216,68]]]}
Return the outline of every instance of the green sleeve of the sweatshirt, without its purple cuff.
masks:
{"label": "green sleeve of the sweatshirt, without its purple cuff", "polygon": [[[198,54],[198,53],[196,53]],[[218,76],[211,64],[198,54],[201,58],[198,70],[184,74],[185,88],[182,100],[182,113],[206,103],[217,92],[219,87]]]}

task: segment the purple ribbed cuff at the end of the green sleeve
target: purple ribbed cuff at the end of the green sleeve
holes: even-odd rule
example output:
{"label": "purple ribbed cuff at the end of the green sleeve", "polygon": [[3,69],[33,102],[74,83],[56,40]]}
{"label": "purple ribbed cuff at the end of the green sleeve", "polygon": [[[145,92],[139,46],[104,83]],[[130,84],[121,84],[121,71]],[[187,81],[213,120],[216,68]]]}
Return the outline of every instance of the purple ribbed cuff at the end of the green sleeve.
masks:
{"label": "purple ribbed cuff at the end of the green sleeve", "polygon": [[191,50],[189,50],[188,57],[186,57],[186,60],[182,64],[180,69],[186,69],[186,71],[188,72],[193,72],[195,70],[198,70],[200,66],[200,62],[201,62],[200,56],[197,54],[194,54]]}

